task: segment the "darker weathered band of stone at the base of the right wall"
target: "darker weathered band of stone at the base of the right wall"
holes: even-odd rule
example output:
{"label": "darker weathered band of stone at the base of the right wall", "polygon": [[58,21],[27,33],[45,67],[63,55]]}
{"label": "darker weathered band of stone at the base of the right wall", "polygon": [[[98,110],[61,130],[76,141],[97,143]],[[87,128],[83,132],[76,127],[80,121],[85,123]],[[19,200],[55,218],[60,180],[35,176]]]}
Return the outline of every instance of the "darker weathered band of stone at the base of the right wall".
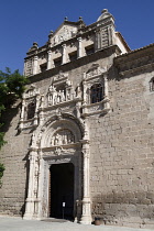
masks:
{"label": "darker weathered band of stone at the base of the right wall", "polygon": [[119,218],[139,217],[154,220],[154,193],[113,191],[92,198],[92,216],[107,222]]}

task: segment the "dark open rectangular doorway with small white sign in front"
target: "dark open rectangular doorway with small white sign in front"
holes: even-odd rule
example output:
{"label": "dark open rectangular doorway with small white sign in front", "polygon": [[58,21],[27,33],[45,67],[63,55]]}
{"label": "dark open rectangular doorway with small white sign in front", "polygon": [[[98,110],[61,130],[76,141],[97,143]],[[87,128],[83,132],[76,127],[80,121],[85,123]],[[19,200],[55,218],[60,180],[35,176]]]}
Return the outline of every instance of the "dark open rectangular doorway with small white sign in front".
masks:
{"label": "dark open rectangular doorway with small white sign in front", "polygon": [[50,170],[50,217],[74,219],[74,165],[54,164]]}

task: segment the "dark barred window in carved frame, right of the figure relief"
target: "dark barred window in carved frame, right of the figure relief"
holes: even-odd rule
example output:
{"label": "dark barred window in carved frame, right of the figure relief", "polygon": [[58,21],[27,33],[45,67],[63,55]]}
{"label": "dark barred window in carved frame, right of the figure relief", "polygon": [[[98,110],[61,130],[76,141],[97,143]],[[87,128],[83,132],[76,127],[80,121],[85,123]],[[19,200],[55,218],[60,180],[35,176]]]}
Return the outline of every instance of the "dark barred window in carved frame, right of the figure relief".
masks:
{"label": "dark barred window in carved frame, right of the figure relief", "polygon": [[95,84],[90,89],[90,102],[100,102],[102,100],[102,86],[101,84]]}

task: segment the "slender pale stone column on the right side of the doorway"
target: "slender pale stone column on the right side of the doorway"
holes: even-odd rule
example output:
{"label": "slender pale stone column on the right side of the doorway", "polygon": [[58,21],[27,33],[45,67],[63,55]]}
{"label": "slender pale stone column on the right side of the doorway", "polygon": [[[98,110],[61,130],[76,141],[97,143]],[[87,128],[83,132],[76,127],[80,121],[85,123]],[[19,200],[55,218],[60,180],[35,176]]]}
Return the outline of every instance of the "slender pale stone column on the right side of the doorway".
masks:
{"label": "slender pale stone column on the right side of the doorway", "polygon": [[90,191],[89,191],[89,143],[82,144],[82,155],[84,155],[84,198],[82,198],[82,216],[81,223],[91,223],[91,202],[90,202]]}

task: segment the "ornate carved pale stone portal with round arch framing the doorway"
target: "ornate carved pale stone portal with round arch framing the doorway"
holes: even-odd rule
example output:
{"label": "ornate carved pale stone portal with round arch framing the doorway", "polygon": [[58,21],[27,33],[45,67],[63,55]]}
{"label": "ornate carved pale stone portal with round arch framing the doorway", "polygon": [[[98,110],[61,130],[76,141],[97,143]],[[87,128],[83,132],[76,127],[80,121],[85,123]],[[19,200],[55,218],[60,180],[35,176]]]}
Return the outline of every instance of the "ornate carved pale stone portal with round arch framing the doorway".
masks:
{"label": "ornate carved pale stone portal with round arch framing the doorway", "polygon": [[84,123],[81,131],[75,119],[64,119],[63,114],[50,121],[32,135],[24,219],[62,218],[65,202],[64,218],[90,223],[87,125]]}

